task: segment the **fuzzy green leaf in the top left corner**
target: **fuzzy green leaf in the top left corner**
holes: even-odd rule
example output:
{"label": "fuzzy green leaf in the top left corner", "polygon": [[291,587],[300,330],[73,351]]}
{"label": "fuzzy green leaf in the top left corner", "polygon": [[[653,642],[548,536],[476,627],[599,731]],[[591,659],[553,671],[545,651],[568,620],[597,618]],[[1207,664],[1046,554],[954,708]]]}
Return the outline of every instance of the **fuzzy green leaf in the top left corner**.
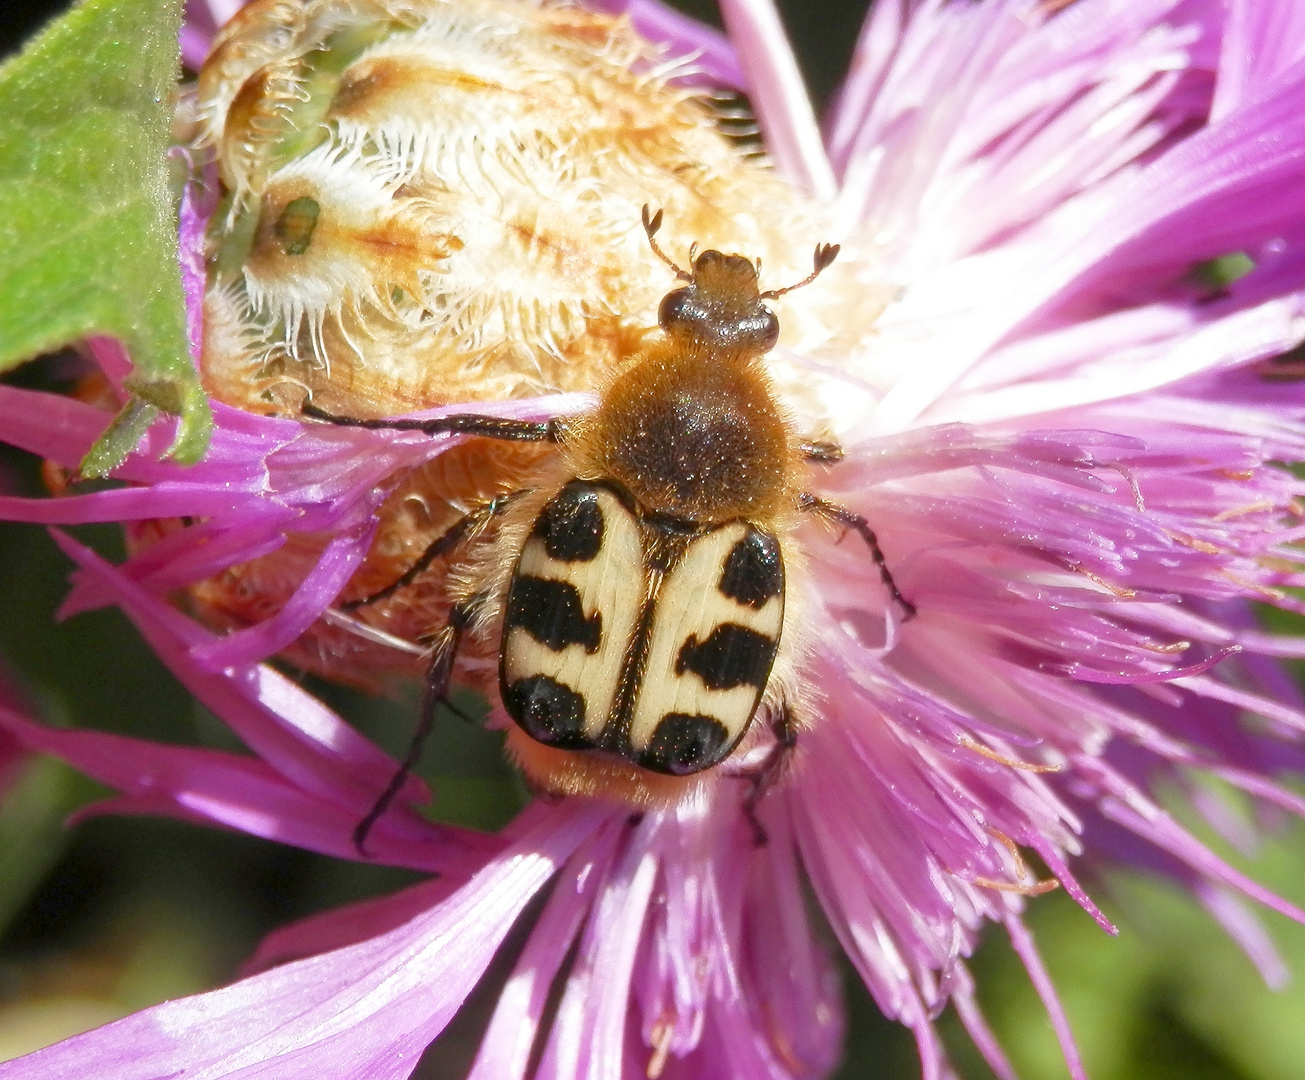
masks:
{"label": "fuzzy green leaf in the top left corner", "polygon": [[0,370],[111,334],[191,462],[211,420],[166,158],[180,20],[181,0],[84,0],[0,68]]}

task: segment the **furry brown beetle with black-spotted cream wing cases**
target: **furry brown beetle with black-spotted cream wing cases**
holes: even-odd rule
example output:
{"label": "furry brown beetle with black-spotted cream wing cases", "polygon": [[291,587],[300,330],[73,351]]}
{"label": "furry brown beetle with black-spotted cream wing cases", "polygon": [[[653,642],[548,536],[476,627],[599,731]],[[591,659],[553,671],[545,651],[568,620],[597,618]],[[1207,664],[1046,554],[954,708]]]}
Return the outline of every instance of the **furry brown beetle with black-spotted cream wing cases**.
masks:
{"label": "furry brown beetle with black-spotted cream wing cases", "polygon": [[[307,411],[559,443],[535,484],[472,510],[432,545],[444,554],[472,540],[458,603],[435,639],[408,766],[463,635],[497,634],[500,691],[515,720],[509,750],[536,787],[632,805],[684,797],[711,783],[765,703],[775,750],[754,771],[750,815],[797,729],[787,706],[797,620],[786,566],[800,514],[856,530],[893,599],[908,617],[914,608],[864,519],[804,493],[805,462],[829,464],[840,451],[800,438],[762,361],[779,335],[765,300],[813,280],[838,248],[817,247],[806,279],[762,292],[743,256],[690,252],[692,269],[681,270],[654,239],[660,218],[645,207],[649,241],[684,284],[662,301],[660,339],[613,374],[594,412],[532,424]],[[501,527],[476,549],[474,537],[499,515]],[[359,826],[359,844],[401,780]]]}

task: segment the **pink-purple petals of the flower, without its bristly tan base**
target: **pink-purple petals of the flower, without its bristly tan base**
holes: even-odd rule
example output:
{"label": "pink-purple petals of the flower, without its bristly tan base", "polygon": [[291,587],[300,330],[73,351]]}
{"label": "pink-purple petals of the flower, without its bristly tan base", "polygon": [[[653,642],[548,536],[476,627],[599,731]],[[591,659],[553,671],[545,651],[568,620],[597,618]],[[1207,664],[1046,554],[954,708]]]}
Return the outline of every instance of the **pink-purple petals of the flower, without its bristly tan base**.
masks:
{"label": "pink-purple petals of the flower, without its bristly tan base", "polygon": [[[804,879],[880,1007],[914,1032],[925,1077],[950,1072],[933,1028],[949,1003],[1013,1075],[964,963],[987,922],[1006,927],[1082,1077],[1022,921],[1048,884],[1022,849],[1108,930],[1071,863],[1168,875],[1282,977],[1244,899],[1305,912],[1155,792],[1186,788],[1229,833],[1193,775],[1305,813],[1278,783],[1305,764],[1305,703],[1276,667],[1305,640],[1258,629],[1249,605],[1301,610],[1287,591],[1302,583],[1301,483],[1279,463],[1305,457],[1302,391],[1278,361],[1305,337],[1305,17],[1288,0],[878,4],[822,136],[763,3],[724,5],[737,56],[650,3],[632,10],[676,47],[701,44],[706,78],[746,85],[779,171],[870,237],[865,280],[891,287],[873,331],[835,326],[840,351],[775,364],[847,451],[820,494],[873,523],[917,618],[894,618],[864,552],[803,535],[818,642],[803,678],[820,716],[761,803],[767,844],[750,843],[728,784],[634,818],[538,802],[487,837],[425,822],[410,780],[371,853],[437,880],[288,927],[232,986],[0,1077],[407,1076],[549,883],[478,1080],[526,1076],[536,1055],[532,1075],[568,1080],[827,1073],[840,1006]],[[200,226],[187,209],[185,252]],[[1229,260],[1249,273],[1223,273]],[[93,348],[120,380],[125,357]],[[115,788],[99,811],[352,857],[393,762],[261,661],[361,563],[386,480],[457,440],[214,411],[196,467],[159,460],[159,425],[117,471],[125,487],[4,497],[0,515],[198,519],[116,567],[56,532],[78,567],[64,613],[120,605],[256,757],[51,730],[13,710],[0,723]],[[0,387],[5,440],[68,467],[103,424],[87,404]],[[218,637],[166,603],[296,533],[330,539],[265,621]]]}

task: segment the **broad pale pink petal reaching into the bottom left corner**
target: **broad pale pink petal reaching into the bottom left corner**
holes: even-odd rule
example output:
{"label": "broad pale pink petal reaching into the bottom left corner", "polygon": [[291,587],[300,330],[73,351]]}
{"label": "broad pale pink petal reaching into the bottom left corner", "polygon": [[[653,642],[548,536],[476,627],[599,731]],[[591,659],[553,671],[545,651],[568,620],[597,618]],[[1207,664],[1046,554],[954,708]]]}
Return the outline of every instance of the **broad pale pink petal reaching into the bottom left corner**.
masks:
{"label": "broad pale pink petal reaching into the bottom left corner", "polygon": [[381,937],[142,1010],[0,1064],[0,1077],[405,1080],[599,820],[574,802],[540,814],[453,896]]}

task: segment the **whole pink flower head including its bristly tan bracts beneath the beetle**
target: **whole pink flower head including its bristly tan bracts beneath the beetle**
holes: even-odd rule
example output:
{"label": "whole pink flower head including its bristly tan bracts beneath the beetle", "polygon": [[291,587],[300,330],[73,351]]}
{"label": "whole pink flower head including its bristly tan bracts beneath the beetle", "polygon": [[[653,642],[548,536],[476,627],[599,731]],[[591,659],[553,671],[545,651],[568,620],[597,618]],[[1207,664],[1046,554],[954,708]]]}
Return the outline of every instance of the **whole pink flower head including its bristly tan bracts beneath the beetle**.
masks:
{"label": "whole pink flower head including its bristly tan bracts beneath the beetle", "polygon": [[[288,927],[261,973],[0,1076],[406,1076],[549,883],[474,1077],[827,1075],[840,1004],[808,888],[930,1080],[949,1075],[949,1004],[1011,1075],[966,967],[989,922],[1082,1076],[1022,921],[1060,884],[1111,930],[1081,866],[1182,883],[1280,970],[1244,903],[1305,912],[1156,793],[1208,775],[1305,811],[1279,783],[1302,764],[1305,707],[1276,667],[1305,642],[1253,614],[1301,609],[1301,483],[1283,466],[1305,457],[1298,16],[877,4],[822,137],[770,8],[724,5],[735,51],[630,13],[262,0],[219,35],[198,116],[226,201],[192,290],[213,449],[181,468],[151,432],[123,487],[0,513],[128,522],[121,566],[56,533],[78,566],[65,613],[120,605],[254,757],[0,717],[115,787],[108,809],[355,856],[393,763],[261,661],[364,685],[419,670],[411,643],[446,618],[457,565],[367,612],[333,605],[393,580],[539,451],[305,423],[304,391],[351,416],[586,413],[667,290],[639,228],[650,189],[667,250],[761,256],[766,282],[843,245],[776,305],[767,365],[795,423],[842,446],[814,496],[868,523],[915,617],[860,539],[795,524],[804,644],[783,680],[809,720],[756,803],[763,844],[744,797],[763,734],[692,797],[634,817],[600,790],[540,801],[496,837],[424,820],[410,779],[368,850],[438,879]],[[771,168],[697,97],[739,83]],[[438,107],[415,111],[419,94]],[[124,357],[93,347],[120,380]],[[7,441],[69,467],[104,421],[12,387],[0,416]],[[167,603],[177,590],[205,625]],[[488,685],[492,651],[472,642],[461,677]]]}

